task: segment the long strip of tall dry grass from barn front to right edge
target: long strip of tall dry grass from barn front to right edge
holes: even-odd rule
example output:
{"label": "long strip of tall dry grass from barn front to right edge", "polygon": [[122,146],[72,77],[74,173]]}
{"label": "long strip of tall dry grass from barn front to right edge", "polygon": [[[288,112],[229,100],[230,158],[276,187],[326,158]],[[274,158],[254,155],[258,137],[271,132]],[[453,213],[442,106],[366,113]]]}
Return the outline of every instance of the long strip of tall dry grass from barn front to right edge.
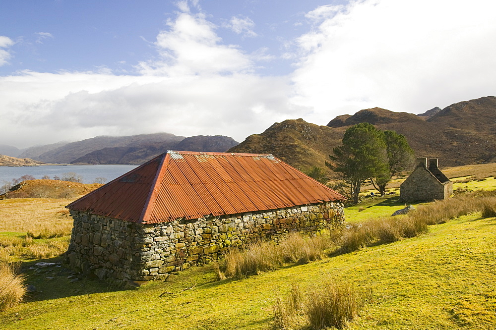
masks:
{"label": "long strip of tall dry grass from barn front to right edge", "polygon": [[284,263],[304,264],[321,259],[326,251],[349,253],[371,244],[386,244],[415,237],[428,231],[428,226],[446,222],[474,212],[484,217],[496,216],[496,191],[476,191],[455,198],[421,205],[405,216],[379,218],[347,228],[333,230],[331,235],[305,238],[300,233],[285,236],[278,245],[269,242],[250,244],[246,251],[231,250],[226,254],[225,273],[220,268],[217,279],[245,278],[277,269]]}

